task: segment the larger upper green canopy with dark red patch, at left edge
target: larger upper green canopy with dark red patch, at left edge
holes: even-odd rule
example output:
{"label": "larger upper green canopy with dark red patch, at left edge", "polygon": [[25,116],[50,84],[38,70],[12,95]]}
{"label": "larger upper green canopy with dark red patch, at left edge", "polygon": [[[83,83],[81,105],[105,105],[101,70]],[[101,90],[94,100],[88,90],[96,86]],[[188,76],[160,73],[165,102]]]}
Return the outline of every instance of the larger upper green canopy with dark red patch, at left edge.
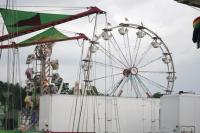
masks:
{"label": "larger upper green canopy with dark red patch, at left edge", "polygon": [[16,33],[24,30],[29,30],[33,27],[44,25],[71,16],[63,14],[27,12],[3,8],[0,8],[0,13],[3,17],[8,33]]}

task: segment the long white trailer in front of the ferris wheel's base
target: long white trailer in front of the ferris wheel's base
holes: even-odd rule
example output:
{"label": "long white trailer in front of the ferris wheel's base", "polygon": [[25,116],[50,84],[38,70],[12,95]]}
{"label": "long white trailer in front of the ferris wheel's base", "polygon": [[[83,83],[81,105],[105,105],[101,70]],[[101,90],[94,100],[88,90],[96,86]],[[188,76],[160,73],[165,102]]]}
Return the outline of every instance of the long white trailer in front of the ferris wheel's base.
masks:
{"label": "long white trailer in front of the ferris wheel's base", "polygon": [[159,99],[148,98],[41,96],[39,129],[51,132],[157,133],[159,103]]}

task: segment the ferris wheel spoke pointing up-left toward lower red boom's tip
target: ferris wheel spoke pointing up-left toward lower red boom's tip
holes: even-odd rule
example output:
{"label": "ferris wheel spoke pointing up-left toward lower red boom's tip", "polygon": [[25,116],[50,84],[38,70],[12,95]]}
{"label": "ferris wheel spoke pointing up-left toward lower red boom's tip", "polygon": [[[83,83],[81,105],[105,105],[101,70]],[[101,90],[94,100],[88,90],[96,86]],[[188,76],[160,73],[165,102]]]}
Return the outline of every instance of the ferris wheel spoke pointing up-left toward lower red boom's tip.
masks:
{"label": "ferris wheel spoke pointing up-left toward lower red boom's tip", "polygon": [[125,63],[123,63],[120,59],[115,57],[112,53],[110,53],[108,50],[106,50],[104,47],[99,45],[102,49],[99,49],[103,54],[105,54],[108,58],[112,59],[115,63],[120,63],[123,65],[125,68],[127,67]]}

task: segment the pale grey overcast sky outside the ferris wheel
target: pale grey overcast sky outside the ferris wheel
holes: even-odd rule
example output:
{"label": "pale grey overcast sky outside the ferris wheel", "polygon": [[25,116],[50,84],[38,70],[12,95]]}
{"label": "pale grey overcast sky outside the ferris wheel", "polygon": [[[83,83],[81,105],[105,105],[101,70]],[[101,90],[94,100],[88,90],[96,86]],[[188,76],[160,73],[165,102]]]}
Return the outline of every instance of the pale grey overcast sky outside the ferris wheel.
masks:
{"label": "pale grey overcast sky outside the ferris wheel", "polygon": [[[0,0],[0,5],[5,5],[6,0]],[[166,43],[172,53],[177,79],[174,91],[195,91],[200,92],[200,50],[192,42],[192,21],[198,17],[200,11],[179,4],[173,0],[27,0],[14,1],[19,6],[67,6],[67,7],[89,7],[97,6],[106,11],[108,21],[112,25],[124,22],[128,18],[130,23],[143,24],[156,32]],[[1,6],[2,7],[2,6]],[[24,9],[25,8],[19,8]],[[44,8],[26,8],[27,10],[40,11]],[[67,14],[67,11],[59,10],[56,13]],[[98,29],[104,24],[104,17],[98,21]],[[1,22],[2,24],[2,22]],[[62,29],[83,32],[88,36],[92,34],[93,24],[88,22],[88,17],[66,23]],[[62,45],[66,44],[66,45]],[[26,69],[25,60],[33,47],[20,49],[21,78],[24,82]],[[72,69],[78,70],[77,60],[80,57],[81,48],[76,42],[66,42],[56,45],[53,50],[53,57],[60,61],[60,70],[65,81],[73,82],[77,72],[71,73]],[[74,55],[77,53],[77,55]],[[6,80],[6,51],[3,51],[3,58],[0,65],[0,79]],[[67,70],[66,70],[67,69]],[[68,72],[70,71],[70,72]]]}

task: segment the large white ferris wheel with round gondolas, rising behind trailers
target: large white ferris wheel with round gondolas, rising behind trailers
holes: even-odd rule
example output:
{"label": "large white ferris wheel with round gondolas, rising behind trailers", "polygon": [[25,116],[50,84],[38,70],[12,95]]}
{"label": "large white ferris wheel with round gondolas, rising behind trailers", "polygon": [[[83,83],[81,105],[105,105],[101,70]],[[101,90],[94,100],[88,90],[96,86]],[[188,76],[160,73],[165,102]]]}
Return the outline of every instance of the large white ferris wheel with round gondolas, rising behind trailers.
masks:
{"label": "large white ferris wheel with round gondolas, rising behind trailers", "polygon": [[176,79],[166,44],[155,32],[137,24],[103,29],[90,42],[82,68],[85,87],[109,96],[171,94]]}

